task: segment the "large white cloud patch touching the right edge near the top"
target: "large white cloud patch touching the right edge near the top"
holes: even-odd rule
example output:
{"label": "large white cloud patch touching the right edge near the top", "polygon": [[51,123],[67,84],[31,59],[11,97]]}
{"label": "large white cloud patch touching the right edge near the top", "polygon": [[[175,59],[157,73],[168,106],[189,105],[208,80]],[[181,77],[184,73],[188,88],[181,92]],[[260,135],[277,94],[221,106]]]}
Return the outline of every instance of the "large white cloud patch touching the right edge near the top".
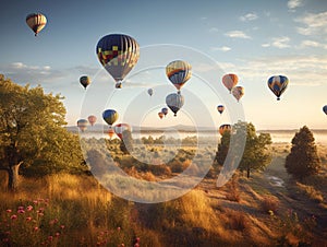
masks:
{"label": "large white cloud patch touching the right edge near the top", "polygon": [[295,19],[295,22],[299,22],[304,25],[296,28],[299,34],[327,34],[327,11],[322,13],[307,13],[302,17]]}

